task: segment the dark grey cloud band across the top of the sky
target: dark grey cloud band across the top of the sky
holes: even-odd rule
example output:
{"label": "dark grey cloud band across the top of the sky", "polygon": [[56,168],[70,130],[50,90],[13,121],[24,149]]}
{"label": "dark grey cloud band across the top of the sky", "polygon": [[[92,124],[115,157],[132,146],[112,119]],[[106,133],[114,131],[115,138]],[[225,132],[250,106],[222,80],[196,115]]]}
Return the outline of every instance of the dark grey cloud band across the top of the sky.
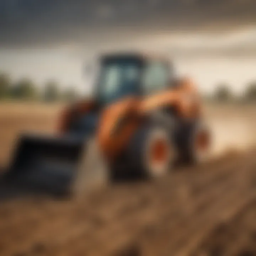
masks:
{"label": "dark grey cloud band across the top of the sky", "polygon": [[254,0],[0,0],[0,47],[97,48],[163,30],[214,33],[254,21]]}

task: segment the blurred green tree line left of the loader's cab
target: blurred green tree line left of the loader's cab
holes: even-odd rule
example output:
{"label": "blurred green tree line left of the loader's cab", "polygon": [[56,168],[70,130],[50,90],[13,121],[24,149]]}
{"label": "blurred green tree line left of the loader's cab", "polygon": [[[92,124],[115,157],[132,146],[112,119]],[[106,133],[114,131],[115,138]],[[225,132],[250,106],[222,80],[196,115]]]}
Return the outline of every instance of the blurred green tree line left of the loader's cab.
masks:
{"label": "blurred green tree line left of the loader's cab", "polygon": [[60,89],[60,85],[49,80],[39,90],[39,87],[29,78],[22,78],[16,82],[12,81],[6,73],[0,73],[0,100],[36,100],[45,102],[73,101],[78,94],[74,86]]}

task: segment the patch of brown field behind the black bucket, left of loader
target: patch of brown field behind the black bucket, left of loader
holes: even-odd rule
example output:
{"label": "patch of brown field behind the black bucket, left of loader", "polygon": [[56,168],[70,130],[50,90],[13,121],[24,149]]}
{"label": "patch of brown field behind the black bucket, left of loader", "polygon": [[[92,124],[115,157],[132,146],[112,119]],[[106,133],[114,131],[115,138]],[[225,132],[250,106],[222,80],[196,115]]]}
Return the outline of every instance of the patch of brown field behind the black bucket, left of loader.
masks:
{"label": "patch of brown field behind the black bucket, left of loader", "polygon": [[60,105],[39,103],[0,104],[0,166],[6,166],[19,133],[26,131],[54,132]]}

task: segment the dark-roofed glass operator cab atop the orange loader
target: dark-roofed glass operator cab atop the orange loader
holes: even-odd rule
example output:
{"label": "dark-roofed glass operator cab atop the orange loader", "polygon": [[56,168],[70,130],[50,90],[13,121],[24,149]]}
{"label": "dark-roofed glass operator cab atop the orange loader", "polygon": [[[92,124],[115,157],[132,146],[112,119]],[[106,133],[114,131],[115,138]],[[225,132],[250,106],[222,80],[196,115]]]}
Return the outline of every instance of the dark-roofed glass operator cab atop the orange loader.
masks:
{"label": "dark-roofed glass operator cab atop the orange loader", "polygon": [[100,60],[96,100],[109,105],[127,96],[155,94],[170,86],[172,65],[142,54],[105,55]]}

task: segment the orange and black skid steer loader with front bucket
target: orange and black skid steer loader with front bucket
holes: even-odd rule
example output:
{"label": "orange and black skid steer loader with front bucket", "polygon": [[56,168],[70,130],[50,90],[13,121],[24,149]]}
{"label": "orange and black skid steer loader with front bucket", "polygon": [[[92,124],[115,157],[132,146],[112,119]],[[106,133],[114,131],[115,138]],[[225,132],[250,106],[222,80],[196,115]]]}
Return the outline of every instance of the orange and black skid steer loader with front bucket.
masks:
{"label": "orange and black skid steer loader with front bucket", "polygon": [[66,108],[58,134],[23,134],[6,178],[24,187],[80,193],[123,175],[161,177],[175,159],[209,152],[201,102],[165,58],[142,53],[100,58],[95,94]]}

